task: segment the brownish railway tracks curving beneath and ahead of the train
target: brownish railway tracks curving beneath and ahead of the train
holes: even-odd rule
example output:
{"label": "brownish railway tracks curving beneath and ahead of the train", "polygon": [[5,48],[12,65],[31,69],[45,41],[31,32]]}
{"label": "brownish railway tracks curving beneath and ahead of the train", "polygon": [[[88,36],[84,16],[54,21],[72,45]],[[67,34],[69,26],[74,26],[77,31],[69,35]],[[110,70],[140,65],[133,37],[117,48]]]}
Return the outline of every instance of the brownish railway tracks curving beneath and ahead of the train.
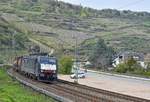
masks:
{"label": "brownish railway tracks curving beneath and ahead of the train", "polygon": [[[14,72],[12,69],[8,72],[11,73],[12,76],[18,77],[20,80],[46,90],[46,92],[51,92],[55,94],[55,96],[59,96],[59,98],[54,98],[63,102],[150,102],[150,100],[147,99],[96,89],[85,85],[74,84],[64,80],[58,80],[57,82],[50,84],[42,83],[33,79],[28,79],[25,76]],[[42,92],[44,93],[45,91]]]}

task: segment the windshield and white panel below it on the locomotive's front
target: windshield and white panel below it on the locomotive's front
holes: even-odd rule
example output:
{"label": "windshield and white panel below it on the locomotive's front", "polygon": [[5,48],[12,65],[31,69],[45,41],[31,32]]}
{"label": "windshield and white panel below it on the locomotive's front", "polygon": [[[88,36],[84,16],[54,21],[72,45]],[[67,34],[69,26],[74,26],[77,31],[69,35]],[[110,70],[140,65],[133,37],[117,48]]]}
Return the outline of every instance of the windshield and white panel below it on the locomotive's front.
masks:
{"label": "windshield and white panel below it on the locomotive's front", "polygon": [[56,70],[56,59],[41,58],[40,59],[41,70]]}

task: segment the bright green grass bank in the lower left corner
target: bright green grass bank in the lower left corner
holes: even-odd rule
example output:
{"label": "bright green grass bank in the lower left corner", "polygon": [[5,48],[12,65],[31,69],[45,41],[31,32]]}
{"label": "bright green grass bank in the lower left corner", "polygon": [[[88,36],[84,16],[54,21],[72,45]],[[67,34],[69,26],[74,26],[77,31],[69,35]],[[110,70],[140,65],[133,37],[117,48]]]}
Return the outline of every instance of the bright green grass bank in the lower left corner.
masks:
{"label": "bright green grass bank in the lower left corner", "polygon": [[0,69],[0,102],[55,102],[55,100],[24,87]]}

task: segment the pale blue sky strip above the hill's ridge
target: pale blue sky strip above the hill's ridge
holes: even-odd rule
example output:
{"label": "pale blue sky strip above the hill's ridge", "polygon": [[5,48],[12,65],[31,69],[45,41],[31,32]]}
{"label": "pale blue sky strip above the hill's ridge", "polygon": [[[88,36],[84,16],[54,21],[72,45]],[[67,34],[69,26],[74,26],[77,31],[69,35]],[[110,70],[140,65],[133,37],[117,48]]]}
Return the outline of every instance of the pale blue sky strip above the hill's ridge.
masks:
{"label": "pale blue sky strip above the hill's ridge", "polygon": [[150,0],[60,0],[95,9],[118,9],[150,12]]}

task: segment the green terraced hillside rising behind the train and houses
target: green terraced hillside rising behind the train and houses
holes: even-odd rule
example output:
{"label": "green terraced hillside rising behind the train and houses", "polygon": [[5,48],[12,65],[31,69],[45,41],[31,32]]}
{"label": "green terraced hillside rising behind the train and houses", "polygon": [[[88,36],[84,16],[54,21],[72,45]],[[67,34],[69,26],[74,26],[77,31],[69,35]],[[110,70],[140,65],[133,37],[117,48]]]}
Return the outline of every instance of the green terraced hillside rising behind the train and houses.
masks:
{"label": "green terraced hillside rising behind the train and houses", "polygon": [[[147,12],[95,10],[57,0],[0,0],[0,15],[6,26],[55,49],[57,54],[72,55],[77,38],[79,54],[85,58],[98,37],[116,52],[150,51]],[[5,32],[2,36],[7,36]]]}

